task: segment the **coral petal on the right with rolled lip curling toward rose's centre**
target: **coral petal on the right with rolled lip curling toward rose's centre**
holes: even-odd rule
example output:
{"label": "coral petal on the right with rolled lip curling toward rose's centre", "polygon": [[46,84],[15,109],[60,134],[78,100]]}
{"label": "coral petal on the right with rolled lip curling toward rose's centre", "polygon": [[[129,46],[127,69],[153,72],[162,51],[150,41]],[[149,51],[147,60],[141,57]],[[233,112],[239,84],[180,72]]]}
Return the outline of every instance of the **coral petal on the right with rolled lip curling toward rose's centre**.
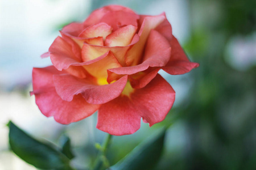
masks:
{"label": "coral petal on the right with rolled lip curling toward rose's centre", "polygon": [[[171,56],[171,48],[169,42],[157,31],[152,30],[144,54],[144,61],[136,66],[119,67],[116,69],[109,69],[108,73],[111,78],[117,75],[132,75],[140,71],[147,70],[148,67],[162,67],[167,64]],[[110,80],[110,78],[108,78]]]}

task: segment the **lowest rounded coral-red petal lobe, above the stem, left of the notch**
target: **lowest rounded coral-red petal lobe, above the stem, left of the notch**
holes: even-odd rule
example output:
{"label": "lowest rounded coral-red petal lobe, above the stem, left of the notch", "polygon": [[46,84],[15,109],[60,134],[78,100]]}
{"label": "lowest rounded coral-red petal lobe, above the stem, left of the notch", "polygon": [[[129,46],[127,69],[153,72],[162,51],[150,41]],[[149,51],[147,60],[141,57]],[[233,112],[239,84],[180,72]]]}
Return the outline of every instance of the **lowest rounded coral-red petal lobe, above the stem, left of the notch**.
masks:
{"label": "lowest rounded coral-red petal lobe, above the stem, left of the notch", "polygon": [[141,127],[141,116],[127,96],[102,104],[96,128],[112,135],[133,134]]}

